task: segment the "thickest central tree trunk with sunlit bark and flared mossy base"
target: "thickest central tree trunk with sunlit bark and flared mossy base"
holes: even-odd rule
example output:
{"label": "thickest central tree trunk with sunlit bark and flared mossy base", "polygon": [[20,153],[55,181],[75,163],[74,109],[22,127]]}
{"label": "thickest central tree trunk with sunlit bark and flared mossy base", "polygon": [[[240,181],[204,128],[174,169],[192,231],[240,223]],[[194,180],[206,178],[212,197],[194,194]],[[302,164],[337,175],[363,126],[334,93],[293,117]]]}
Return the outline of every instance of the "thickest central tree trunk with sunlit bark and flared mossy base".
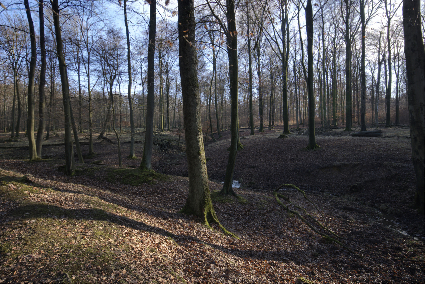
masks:
{"label": "thickest central tree trunk with sunlit bark and flared mossy base", "polygon": [[189,194],[181,213],[201,217],[209,225],[218,223],[208,187],[207,163],[202,142],[201,96],[199,94],[195,48],[193,0],[178,1],[178,52],[183,98]]}

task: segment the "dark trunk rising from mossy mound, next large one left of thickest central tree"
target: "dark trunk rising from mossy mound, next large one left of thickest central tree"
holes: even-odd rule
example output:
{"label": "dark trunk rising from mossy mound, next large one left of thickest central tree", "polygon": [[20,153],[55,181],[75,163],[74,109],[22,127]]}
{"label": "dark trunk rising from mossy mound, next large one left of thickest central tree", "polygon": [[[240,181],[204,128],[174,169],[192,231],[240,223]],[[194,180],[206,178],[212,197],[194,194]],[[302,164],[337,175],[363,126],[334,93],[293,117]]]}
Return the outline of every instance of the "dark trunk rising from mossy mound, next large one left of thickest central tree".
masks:
{"label": "dark trunk rising from mossy mound, next large one left of thickest central tree", "polygon": [[[180,3],[180,2],[179,2]],[[179,28],[181,26],[179,25]],[[146,127],[143,147],[141,170],[152,170],[152,142],[153,142],[153,111],[155,99],[154,63],[155,63],[155,35],[156,35],[156,0],[150,1],[149,44],[147,47],[147,104]]]}

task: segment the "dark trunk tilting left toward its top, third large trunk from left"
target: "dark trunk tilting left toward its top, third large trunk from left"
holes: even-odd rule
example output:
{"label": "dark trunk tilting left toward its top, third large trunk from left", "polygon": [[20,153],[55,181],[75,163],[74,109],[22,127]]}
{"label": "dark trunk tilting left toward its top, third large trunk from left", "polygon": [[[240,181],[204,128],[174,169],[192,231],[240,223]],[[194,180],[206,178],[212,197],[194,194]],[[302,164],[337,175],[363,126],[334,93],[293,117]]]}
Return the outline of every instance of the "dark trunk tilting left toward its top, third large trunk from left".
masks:
{"label": "dark trunk tilting left toward its top, third large trunk from left", "polygon": [[[27,0],[26,0],[27,1]],[[73,165],[74,150],[72,146],[71,137],[71,100],[69,97],[69,84],[68,74],[66,71],[66,62],[63,56],[63,45],[62,45],[62,34],[60,31],[59,22],[59,4],[58,0],[52,0],[51,6],[53,10],[54,29],[56,35],[56,51],[57,58],[59,61],[59,73],[60,80],[62,83],[62,99],[63,99],[63,110],[65,114],[65,173],[67,175],[73,175],[75,171],[75,165]]]}

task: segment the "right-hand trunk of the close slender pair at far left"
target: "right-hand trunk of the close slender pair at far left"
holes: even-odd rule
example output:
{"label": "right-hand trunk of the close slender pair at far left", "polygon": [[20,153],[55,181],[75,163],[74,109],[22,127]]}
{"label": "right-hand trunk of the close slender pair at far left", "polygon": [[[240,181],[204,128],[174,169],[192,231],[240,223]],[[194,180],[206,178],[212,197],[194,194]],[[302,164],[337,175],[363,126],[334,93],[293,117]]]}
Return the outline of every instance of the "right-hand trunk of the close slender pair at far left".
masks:
{"label": "right-hand trunk of the close slender pair at far left", "polygon": [[[41,158],[41,148],[43,145],[43,134],[45,128],[44,109],[45,109],[45,92],[44,85],[46,82],[46,47],[44,40],[44,13],[43,13],[43,0],[38,2],[38,14],[40,19],[40,50],[41,50],[41,68],[40,68],[40,82],[38,85],[38,130],[37,130],[37,141],[35,143],[37,148],[37,156]],[[78,78],[79,82],[79,78]],[[81,95],[81,92],[80,92]],[[80,96],[81,97],[81,96]]]}

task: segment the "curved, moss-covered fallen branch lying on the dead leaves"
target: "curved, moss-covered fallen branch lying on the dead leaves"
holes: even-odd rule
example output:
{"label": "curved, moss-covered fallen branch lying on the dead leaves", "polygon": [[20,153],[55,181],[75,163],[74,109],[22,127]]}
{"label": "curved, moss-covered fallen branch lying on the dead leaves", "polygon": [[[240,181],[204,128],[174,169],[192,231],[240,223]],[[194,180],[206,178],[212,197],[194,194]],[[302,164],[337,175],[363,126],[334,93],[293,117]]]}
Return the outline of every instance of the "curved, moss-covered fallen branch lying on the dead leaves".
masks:
{"label": "curved, moss-covered fallen branch lying on the dead leaves", "polygon": [[[314,204],[314,202],[312,202],[309,198],[307,198],[307,196],[306,196],[306,193],[305,192],[303,192],[301,189],[299,189],[298,187],[296,187],[295,185],[293,185],[293,184],[282,184],[280,187],[278,187],[277,189],[275,189],[274,191],[273,191],[273,195],[275,196],[275,198],[276,198],[276,201],[283,207],[283,209],[285,209],[289,214],[294,214],[294,215],[297,215],[304,223],[306,223],[306,225],[307,226],[309,226],[315,233],[317,233],[317,234],[319,234],[320,236],[322,236],[322,237],[324,237],[327,241],[329,241],[329,242],[335,242],[335,243],[337,243],[338,245],[340,245],[340,246],[342,246],[343,248],[345,248],[347,251],[349,251],[350,253],[353,253],[353,254],[356,254],[357,256],[360,256],[359,254],[357,254],[357,253],[355,253],[353,250],[351,250],[351,248],[348,248],[346,245],[344,245],[343,243],[341,243],[340,241],[338,241],[337,239],[334,239],[334,238],[332,238],[332,237],[329,237],[329,235],[330,234],[333,234],[335,237],[337,237],[337,238],[340,238],[337,234],[335,234],[333,231],[331,231],[330,229],[329,229],[329,227],[327,226],[327,224],[326,224],[326,220],[325,220],[325,218],[323,217],[323,220],[325,220],[325,225],[326,226],[323,226],[319,221],[317,221],[311,214],[308,214],[307,213],[307,211],[306,211],[306,209],[303,209],[301,206],[298,206],[298,205],[296,205],[296,204],[294,204],[294,203],[292,203],[291,202],[291,200],[289,200],[289,198],[288,197],[286,197],[285,195],[281,195],[280,193],[278,193],[278,190],[279,189],[281,189],[282,187],[289,187],[289,188],[293,188],[293,189],[297,189],[297,191],[298,192],[301,192],[302,194],[303,194],[303,196],[304,196],[304,198],[306,199],[306,200],[308,200],[310,203],[312,203],[313,204],[313,206],[314,206],[314,208],[316,208],[316,210],[317,211],[319,211],[319,213],[322,215],[322,217],[323,217],[323,214],[320,212],[320,210],[317,208],[317,206],[316,206],[316,204]],[[329,232],[329,235],[327,235],[327,234],[324,234],[324,233],[322,233],[322,232],[320,232],[320,231],[318,231],[312,224],[310,224],[299,212],[297,212],[297,211],[295,211],[295,210],[292,210],[292,209],[289,209],[289,205],[285,205],[285,204],[283,204],[282,203],[282,201],[280,201],[280,199],[279,198],[283,198],[283,199],[285,199],[288,203],[290,203],[290,204],[292,204],[292,205],[294,205],[295,207],[297,207],[298,209],[300,209],[300,210],[302,210],[303,212],[305,212],[306,214],[307,214],[307,216],[309,216],[310,218],[312,218],[313,220],[314,220],[314,222],[315,223],[317,223],[321,228],[323,228],[323,229],[325,229],[326,231],[328,231]],[[360,256],[360,257],[362,257],[363,258],[363,256]]]}

